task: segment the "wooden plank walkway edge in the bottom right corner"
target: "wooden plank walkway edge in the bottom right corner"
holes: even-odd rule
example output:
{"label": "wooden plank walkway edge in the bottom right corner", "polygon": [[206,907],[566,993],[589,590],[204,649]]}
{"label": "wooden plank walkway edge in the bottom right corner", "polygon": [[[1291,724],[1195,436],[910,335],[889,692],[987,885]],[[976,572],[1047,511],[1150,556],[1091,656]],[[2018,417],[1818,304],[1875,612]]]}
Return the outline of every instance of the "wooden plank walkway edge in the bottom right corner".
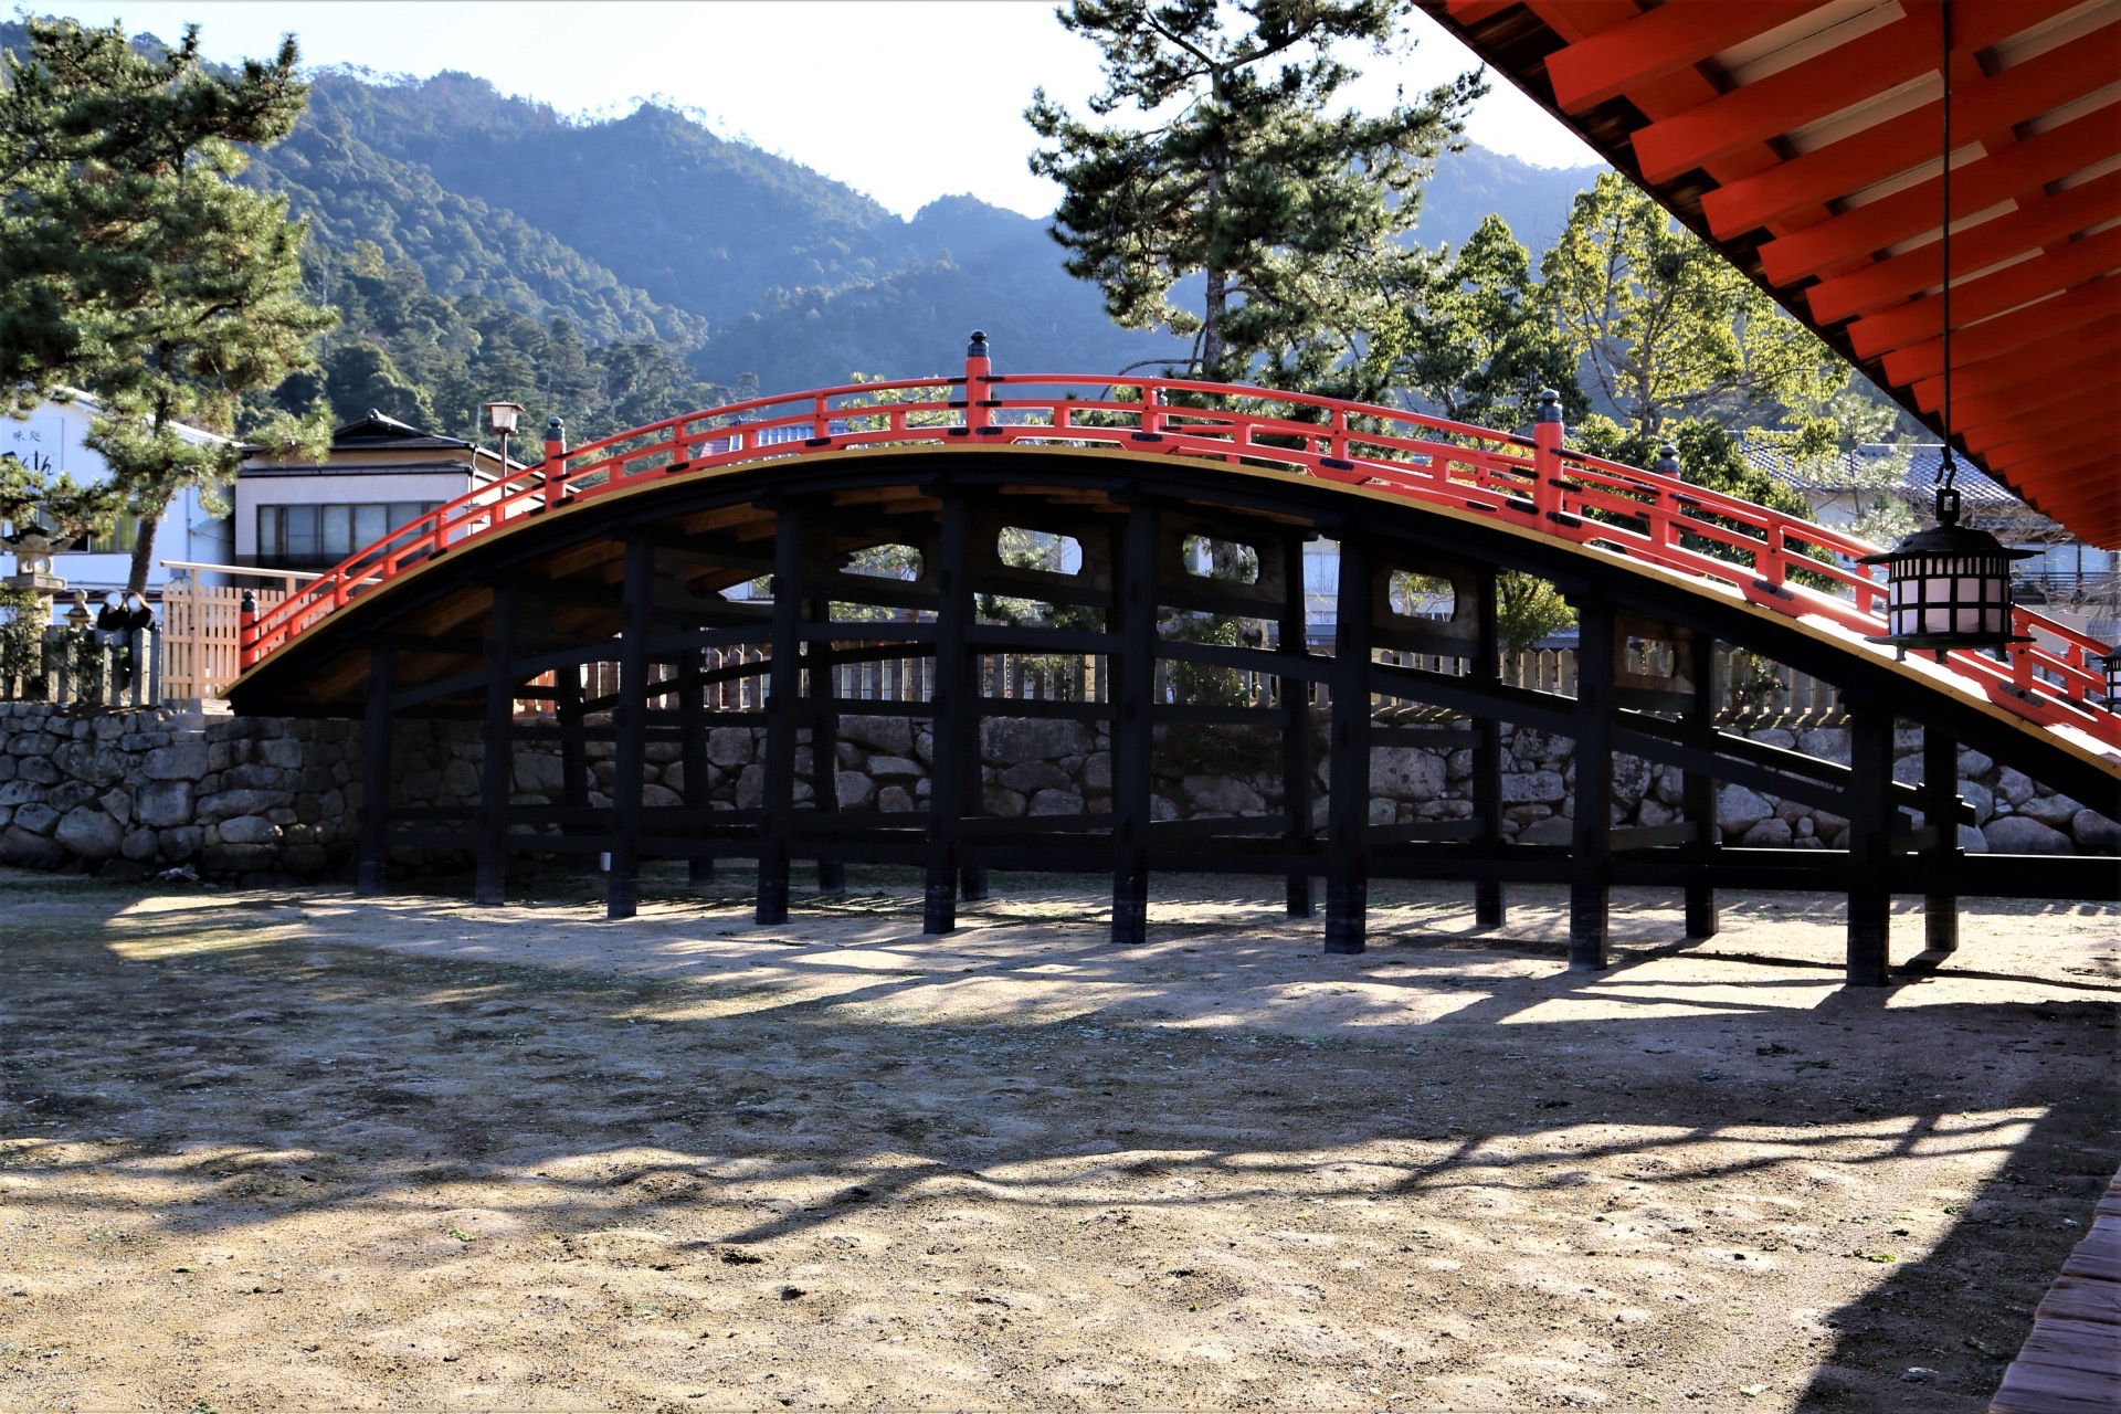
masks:
{"label": "wooden plank walkway edge in the bottom right corner", "polygon": [[2121,1174],[2002,1376],[1989,1414],[2121,1412]]}

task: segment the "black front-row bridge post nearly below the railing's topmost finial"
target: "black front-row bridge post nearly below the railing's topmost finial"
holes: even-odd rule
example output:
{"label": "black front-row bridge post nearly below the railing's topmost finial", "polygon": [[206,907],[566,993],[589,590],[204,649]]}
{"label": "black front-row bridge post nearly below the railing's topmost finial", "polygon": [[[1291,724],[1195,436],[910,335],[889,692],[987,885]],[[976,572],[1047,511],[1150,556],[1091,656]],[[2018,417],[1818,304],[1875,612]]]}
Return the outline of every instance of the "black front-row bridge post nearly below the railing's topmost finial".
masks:
{"label": "black front-row bridge post nearly below the railing's topmost finial", "polygon": [[[935,547],[935,695],[933,759],[929,763],[927,820],[927,892],[921,903],[923,933],[957,929],[957,869],[969,797],[967,763],[978,761],[965,750],[965,738],[980,736],[980,714],[974,702],[971,653],[965,634],[971,628],[971,581],[967,555],[971,549],[971,507],[963,496],[942,502],[942,528]],[[971,780],[978,780],[974,776]]]}

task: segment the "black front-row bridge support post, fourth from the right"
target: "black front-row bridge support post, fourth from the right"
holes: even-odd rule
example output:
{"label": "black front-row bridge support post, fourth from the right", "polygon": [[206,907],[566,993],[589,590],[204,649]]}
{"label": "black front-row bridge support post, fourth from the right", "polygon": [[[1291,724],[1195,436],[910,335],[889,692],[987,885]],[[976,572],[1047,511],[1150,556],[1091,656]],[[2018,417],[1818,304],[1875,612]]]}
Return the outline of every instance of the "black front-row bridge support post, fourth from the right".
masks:
{"label": "black front-row bridge support post, fourth from the right", "polygon": [[1114,596],[1120,700],[1111,717],[1111,941],[1150,937],[1150,767],[1156,753],[1156,583],[1160,517],[1135,505],[1120,534],[1120,594]]}

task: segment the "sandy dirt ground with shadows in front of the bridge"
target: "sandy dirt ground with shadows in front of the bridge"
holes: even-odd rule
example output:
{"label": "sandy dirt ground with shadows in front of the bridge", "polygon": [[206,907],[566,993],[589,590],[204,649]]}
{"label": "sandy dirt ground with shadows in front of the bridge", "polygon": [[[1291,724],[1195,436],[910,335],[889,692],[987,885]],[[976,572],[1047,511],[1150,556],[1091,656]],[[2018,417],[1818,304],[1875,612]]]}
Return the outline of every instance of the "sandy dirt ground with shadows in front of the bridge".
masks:
{"label": "sandy dirt ground with shadows in front of the bridge", "polygon": [[0,876],[0,1406],[1975,1412],[2121,1162],[2113,907],[747,884]]}

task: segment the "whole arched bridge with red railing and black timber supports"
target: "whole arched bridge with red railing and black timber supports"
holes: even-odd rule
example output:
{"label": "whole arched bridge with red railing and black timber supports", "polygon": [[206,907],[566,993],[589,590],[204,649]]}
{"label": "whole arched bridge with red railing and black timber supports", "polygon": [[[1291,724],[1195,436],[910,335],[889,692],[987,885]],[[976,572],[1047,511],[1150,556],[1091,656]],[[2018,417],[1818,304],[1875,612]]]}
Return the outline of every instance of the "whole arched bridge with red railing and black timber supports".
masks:
{"label": "whole arched bridge with red railing and black timber supports", "polygon": [[[963,377],[806,390],[670,418],[484,485],[371,545],[259,615],[244,636],[246,712],[365,714],[363,880],[382,884],[390,844],[477,852],[481,897],[498,899],[509,852],[609,852],[615,916],[632,912],[641,854],[759,861],[759,916],[787,905],[791,859],[821,876],[848,859],[925,863],[929,926],[952,926],[963,878],[995,867],[1105,869],[1114,929],[1139,935],[1152,869],[1283,873],[1292,909],[1328,880],[1328,948],[1360,948],[1372,876],[1463,878],[1500,920],[1506,882],[1567,882],[1574,956],[1603,958],[1606,890],[1688,890],[1688,926],[1714,931],[1712,890],[1847,888],[1852,975],[1883,975],[1886,901],[1932,901],[1932,943],[1949,939],[1958,892],[2106,897],[2113,861],[1968,856],[1958,831],[1956,748],[1973,746],[2121,812],[2121,717],[2100,706],[2083,634],[2017,611],[2032,642],[2002,655],[1898,661],[1883,632],[1886,587],[1854,560],[1873,547],[1659,475],[1565,449],[1559,420],[1531,439],[1387,407],[1186,379],[995,373],[976,341]],[[1073,570],[1001,560],[997,530],[1029,528],[1080,547]],[[1340,547],[1334,642],[1304,632],[1302,543]],[[1188,568],[1190,538],[1245,547],[1245,583]],[[908,579],[848,570],[880,545],[916,551]],[[1497,681],[1495,577],[1527,570],[1578,606],[1574,697]],[[1449,621],[1393,608],[1391,577],[1453,583]],[[770,604],[723,594],[772,577]],[[1031,623],[991,623],[978,596],[1046,604]],[[870,606],[870,611],[851,608]],[[889,613],[891,621],[874,615]],[[1243,647],[1186,640],[1179,617],[1251,625]],[[1162,623],[1162,628],[1160,628]],[[1088,628],[1086,628],[1088,625]],[[1841,687],[1847,763],[1718,731],[1705,666],[1739,644]],[[747,664],[723,661],[734,647]],[[1657,647],[1644,657],[1642,649]],[[1094,659],[1101,700],[1020,702],[980,687],[993,653]],[[882,655],[933,659],[918,700],[834,695],[831,670]],[[1381,653],[1385,655],[1381,659]],[[1404,655],[1436,668],[1410,668]],[[1393,661],[1400,659],[1400,661]],[[609,672],[588,672],[592,664]],[[1241,706],[1186,702],[1160,664],[1237,670],[1270,687]],[[1646,666],[1652,664],[1652,666]],[[751,674],[783,710],[730,710],[713,681]],[[613,681],[615,691],[602,685]],[[583,687],[588,683],[588,687]],[[1330,689],[1328,820],[1313,820],[1313,685]],[[558,733],[615,742],[609,806],[568,786],[568,806],[509,803],[488,772],[481,808],[382,808],[395,717],[479,717],[494,744],[530,740],[513,706],[545,697]],[[1432,727],[1385,727],[1374,700],[1436,708]],[[611,723],[602,723],[602,712]],[[834,791],[797,791],[797,733],[836,740],[842,714],[889,710],[933,723],[933,791],[914,814],[840,812]],[[1073,717],[1111,733],[1107,808],[999,820],[982,814],[978,723]],[[1920,784],[1892,780],[1894,719],[1926,736]],[[643,806],[647,742],[696,753],[715,725],[766,727],[753,810]],[[1152,820],[1158,727],[1254,723],[1281,731],[1285,793],[1275,814]],[[1570,850],[1504,846],[1497,723],[1578,742],[1578,795],[1603,791],[1614,753],[1676,765],[1686,820],[1610,829],[1576,812]],[[1455,723],[1455,725],[1453,725]],[[1453,829],[1366,818],[1368,746],[1474,748],[1474,818]],[[1406,738],[1400,742],[1400,738]],[[498,759],[509,759],[507,755]],[[632,778],[632,784],[628,780]],[[704,780],[706,772],[689,778]],[[1716,839],[1716,782],[1746,782],[1852,820],[1847,850],[1735,850]],[[575,803],[575,801],[581,803]],[[1930,820],[1913,829],[1903,810]],[[1657,835],[1654,839],[1648,835]],[[1769,856],[1775,859],[1769,859]],[[1943,905],[1943,907],[1939,907]]]}

